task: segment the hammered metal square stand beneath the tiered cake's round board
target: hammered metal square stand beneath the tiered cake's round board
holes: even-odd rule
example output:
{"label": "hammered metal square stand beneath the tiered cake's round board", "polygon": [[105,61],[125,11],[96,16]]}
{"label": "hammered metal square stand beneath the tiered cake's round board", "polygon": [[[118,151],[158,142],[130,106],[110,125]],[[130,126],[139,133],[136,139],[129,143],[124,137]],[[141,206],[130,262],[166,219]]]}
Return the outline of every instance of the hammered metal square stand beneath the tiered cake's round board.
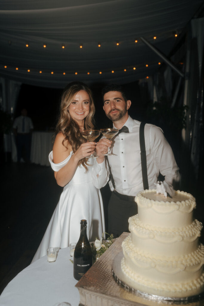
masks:
{"label": "hammered metal square stand beneath the tiered cake's round board", "polygon": [[122,233],[76,284],[80,293],[79,306],[203,306],[204,299],[195,301],[155,300],[132,293],[117,284],[112,275],[112,263],[122,251],[122,241],[129,233]]}

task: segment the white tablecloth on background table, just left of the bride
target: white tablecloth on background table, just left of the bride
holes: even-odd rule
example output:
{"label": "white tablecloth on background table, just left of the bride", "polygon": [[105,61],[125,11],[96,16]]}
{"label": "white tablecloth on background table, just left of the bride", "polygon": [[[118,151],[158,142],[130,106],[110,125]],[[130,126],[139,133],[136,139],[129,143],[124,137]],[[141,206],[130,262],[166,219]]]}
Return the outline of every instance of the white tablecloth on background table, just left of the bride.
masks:
{"label": "white tablecloth on background table, just left of the bride", "polygon": [[32,132],[31,162],[50,166],[48,155],[52,151],[54,132]]}

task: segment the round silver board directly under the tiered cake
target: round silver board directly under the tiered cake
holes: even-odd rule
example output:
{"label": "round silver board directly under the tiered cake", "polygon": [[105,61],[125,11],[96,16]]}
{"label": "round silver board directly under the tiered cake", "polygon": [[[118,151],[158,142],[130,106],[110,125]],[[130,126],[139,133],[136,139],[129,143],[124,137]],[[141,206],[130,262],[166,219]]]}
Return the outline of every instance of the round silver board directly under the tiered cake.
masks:
{"label": "round silver board directly under the tiered cake", "polygon": [[[190,304],[191,302],[196,302],[196,301],[201,301],[203,300],[203,304],[204,305],[204,293],[202,294],[198,294],[198,295],[194,295],[191,297],[162,297],[159,295],[154,295],[154,294],[149,294],[143,291],[140,291],[138,289],[135,289],[132,287],[132,281],[123,273],[122,269],[121,269],[121,260],[124,257],[123,252],[118,253],[114,259],[113,259],[113,263],[112,263],[112,274],[113,274],[113,278],[115,279],[115,281],[117,282],[118,285],[123,286],[126,290],[128,290],[129,292],[132,292],[133,294],[143,297],[147,300],[157,300],[165,302],[165,304],[169,304],[169,305],[192,305]],[[173,303],[173,304],[172,304]]]}

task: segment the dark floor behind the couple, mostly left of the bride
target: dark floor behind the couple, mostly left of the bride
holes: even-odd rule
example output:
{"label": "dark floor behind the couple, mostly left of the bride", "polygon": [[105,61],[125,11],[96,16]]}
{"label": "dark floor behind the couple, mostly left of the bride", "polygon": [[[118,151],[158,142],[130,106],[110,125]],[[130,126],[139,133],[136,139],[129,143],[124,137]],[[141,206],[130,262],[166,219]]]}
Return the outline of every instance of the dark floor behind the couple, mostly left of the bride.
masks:
{"label": "dark floor behind the couple, mostly left of the bride", "polygon": [[[1,165],[1,178],[0,293],[30,264],[62,191],[46,166],[6,163]],[[197,201],[195,218],[204,224],[201,186],[189,192]],[[108,188],[102,189],[102,196],[106,212]]]}

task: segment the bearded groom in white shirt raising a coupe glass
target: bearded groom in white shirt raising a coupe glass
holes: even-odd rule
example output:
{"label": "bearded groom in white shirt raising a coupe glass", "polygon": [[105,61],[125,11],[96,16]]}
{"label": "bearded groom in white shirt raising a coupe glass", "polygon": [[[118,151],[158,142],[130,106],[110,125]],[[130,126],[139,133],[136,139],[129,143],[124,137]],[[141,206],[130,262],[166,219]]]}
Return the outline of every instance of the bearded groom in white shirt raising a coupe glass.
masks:
{"label": "bearded groom in white shirt raising a coupe glass", "polygon": [[[113,128],[119,133],[112,141],[102,138],[96,146],[99,156],[92,175],[97,188],[102,188],[109,181],[112,191],[108,204],[108,231],[118,237],[128,232],[128,218],[137,213],[135,196],[143,190],[143,177],[140,156],[139,127],[140,122],[128,115],[131,101],[127,100],[121,86],[111,84],[102,90],[103,109],[106,116],[113,121]],[[121,128],[123,128],[122,131]],[[149,189],[155,188],[155,183],[161,173],[165,182],[173,189],[173,183],[179,181],[179,168],[172,149],[164,137],[162,130],[152,124],[144,127],[145,149],[147,157],[147,179]],[[115,156],[107,156],[108,147],[113,149]],[[110,167],[110,169],[109,169]],[[111,173],[110,173],[111,170]]]}

